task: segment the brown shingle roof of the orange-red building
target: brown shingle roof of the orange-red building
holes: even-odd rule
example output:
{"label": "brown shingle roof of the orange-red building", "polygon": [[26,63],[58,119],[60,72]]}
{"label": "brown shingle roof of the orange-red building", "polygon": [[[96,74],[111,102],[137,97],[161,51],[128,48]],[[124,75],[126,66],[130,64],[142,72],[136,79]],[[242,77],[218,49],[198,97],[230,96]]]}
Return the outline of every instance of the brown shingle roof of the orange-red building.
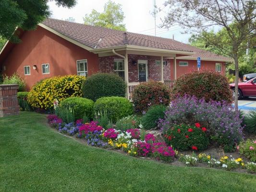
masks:
{"label": "brown shingle roof of the orange-red building", "polygon": [[[95,48],[96,45],[97,48],[134,45],[195,52],[194,55],[182,57],[185,59],[196,59],[197,57],[201,57],[208,60],[230,60],[230,58],[195,48],[169,38],[147,36],[143,34],[118,31],[104,27],[78,24],[51,18],[46,19],[42,22],[42,24],[45,24],[62,35],[68,36],[69,38],[72,38],[90,48]],[[98,43],[100,38],[101,41]]]}

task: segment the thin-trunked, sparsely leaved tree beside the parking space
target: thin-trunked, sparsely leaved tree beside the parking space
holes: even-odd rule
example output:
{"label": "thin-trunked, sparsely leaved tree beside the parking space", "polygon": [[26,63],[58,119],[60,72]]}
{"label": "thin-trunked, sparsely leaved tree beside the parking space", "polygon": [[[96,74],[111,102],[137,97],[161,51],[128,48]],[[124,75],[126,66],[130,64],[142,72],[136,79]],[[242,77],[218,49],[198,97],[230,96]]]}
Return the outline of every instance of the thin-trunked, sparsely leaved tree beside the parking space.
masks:
{"label": "thin-trunked, sparsely leaved tree beside the parking space", "polygon": [[[256,1],[255,0],[168,0],[165,5],[169,12],[164,18],[163,26],[179,24],[184,29],[206,32],[209,27],[217,25],[226,29],[225,34],[205,36],[209,45],[221,51],[231,46],[231,57],[235,63],[235,109],[238,110],[237,93],[239,68],[238,59],[241,50],[247,48],[256,38]],[[207,35],[207,34],[206,34]],[[223,41],[224,40],[224,41]],[[249,42],[244,45],[244,41]]]}

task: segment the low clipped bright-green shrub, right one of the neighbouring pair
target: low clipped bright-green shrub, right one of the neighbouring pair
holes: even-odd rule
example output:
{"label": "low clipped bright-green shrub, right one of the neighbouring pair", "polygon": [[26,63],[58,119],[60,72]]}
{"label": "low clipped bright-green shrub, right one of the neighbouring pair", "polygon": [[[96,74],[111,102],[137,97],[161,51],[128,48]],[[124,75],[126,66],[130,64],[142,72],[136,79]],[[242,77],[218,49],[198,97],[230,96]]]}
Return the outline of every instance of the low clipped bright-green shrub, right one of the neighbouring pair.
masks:
{"label": "low clipped bright-green shrub, right one of the neighbouring pair", "polygon": [[101,97],[95,102],[93,109],[97,115],[106,113],[113,123],[133,114],[132,103],[120,96]]}

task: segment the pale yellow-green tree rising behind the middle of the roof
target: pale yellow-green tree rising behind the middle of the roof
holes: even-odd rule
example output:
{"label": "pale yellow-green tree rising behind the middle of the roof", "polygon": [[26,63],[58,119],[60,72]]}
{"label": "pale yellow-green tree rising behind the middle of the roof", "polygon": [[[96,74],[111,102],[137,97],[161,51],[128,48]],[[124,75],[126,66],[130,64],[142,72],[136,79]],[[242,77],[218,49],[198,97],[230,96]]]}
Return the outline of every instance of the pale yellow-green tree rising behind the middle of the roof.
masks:
{"label": "pale yellow-green tree rising behind the middle of the roof", "polygon": [[126,31],[123,20],[122,5],[111,0],[104,5],[103,12],[100,13],[93,9],[90,14],[85,14],[84,17],[85,24]]}

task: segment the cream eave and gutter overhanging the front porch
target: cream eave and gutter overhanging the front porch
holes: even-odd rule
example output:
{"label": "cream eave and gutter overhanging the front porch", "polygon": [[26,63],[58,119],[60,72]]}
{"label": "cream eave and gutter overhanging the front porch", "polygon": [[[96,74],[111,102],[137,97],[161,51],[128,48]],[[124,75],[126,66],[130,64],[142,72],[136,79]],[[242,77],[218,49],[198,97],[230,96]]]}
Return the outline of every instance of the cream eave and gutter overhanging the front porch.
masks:
{"label": "cream eave and gutter overhanging the front porch", "polygon": [[134,45],[122,45],[122,46],[114,46],[108,48],[97,48],[90,50],[95,54],[98,54],[99,57],[110,56],[113,55],[112,50],[118,51],[119,53],[127,53],[127,54],[136,54],[136,55],[151,55],[151,56],[163,56],[163,57],[175,57],[176,54],[180,54],[183,56],[189,56],[195,54],[192,51],[182,51],[182,50],[172,50],[172,49],[164,49],[164,48],[151,48],[151,47],[142,47],[142,46],[134,46]]}

